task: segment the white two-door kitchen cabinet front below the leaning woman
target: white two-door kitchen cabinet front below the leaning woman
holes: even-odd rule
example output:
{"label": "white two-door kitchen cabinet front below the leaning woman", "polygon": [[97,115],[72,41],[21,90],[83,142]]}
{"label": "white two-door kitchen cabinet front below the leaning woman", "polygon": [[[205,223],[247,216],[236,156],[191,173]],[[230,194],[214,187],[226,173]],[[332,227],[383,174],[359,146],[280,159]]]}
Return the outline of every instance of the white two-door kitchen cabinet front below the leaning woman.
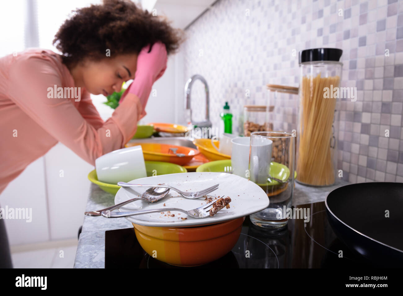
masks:
{"label": "white two-door kitchen cabinet front below the leaning woman", "polygon": [[77,238],[93,169],[61,143],[29,164],[0,195],[1,207],[32,211],[31,222],[5,220],[10,245]]}

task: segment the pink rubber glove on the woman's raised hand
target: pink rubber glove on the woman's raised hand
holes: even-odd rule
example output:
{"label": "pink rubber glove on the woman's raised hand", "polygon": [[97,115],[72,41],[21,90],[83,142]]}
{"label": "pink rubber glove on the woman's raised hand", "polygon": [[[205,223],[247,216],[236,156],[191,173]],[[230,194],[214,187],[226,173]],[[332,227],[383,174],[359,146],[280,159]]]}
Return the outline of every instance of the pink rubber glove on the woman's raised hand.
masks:
{"label": "pink rubber glove on the woman's raised hand", "polygon": [[127,93],[137,95],[143,106],[138,120],[147,114],[144,109],[150,96],[152,85],[164,74],[168,61],[164,43],[157,41],[152,46],[151,52],[148,52],[149,50],[150,45],[147,45],[139,53],[135,78],[119,101],[121,103]]}

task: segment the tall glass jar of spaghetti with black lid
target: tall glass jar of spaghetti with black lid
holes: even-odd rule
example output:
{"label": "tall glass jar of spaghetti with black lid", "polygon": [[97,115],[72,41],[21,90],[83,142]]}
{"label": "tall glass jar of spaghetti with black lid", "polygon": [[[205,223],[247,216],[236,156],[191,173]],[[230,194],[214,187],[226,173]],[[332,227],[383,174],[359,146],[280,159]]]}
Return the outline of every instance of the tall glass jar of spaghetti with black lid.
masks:
{"label": "tall glass jar of spaghetti with black lid", "polygon": [[297,182],[329,186],[337,180],[342,50],[315,48],[299,52]]}

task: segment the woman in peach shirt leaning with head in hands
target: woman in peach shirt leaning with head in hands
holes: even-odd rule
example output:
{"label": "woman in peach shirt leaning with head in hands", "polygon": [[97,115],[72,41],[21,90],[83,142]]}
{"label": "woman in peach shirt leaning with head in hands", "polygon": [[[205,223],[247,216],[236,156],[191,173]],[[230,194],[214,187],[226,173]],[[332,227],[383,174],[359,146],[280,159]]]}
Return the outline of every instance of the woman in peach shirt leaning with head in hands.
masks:
{"label": "woman in peach shirt leaning with head in hands", "polygon": [[[59,141],[95,165],[125,147],[145,116],[153,83],[181,31],[129,0],[104,0],[75,11],[53,44],[62,55],[38,48],[0,59],[0,193],[32,161]],[[89,94],[110,95],[134,79],[104,122]],[[11,267],[0,219],[0,267]]]}

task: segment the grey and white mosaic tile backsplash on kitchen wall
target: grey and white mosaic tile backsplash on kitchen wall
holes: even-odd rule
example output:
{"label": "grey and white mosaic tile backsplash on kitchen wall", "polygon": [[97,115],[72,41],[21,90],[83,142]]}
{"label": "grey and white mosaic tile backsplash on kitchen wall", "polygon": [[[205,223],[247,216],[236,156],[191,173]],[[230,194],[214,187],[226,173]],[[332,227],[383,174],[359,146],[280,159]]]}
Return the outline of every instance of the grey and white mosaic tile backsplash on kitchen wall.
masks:
{"label": "grey and white mosaic tile backsplash on kitchen wall", "polygon": [[[243,106],[266,101],[268,83],[298,87],[300,50],[341,48],[341,87],[357,87],[357,101],[339,104],[343,179],[403,182],[403,0],[219,0],[186,32],[185,77],[206,79],[213,127],[229,102],[234,133]],[[202,83],[191,95],[202,121]],[[277,101],[274,125],[295,124],[294,108]]]}

